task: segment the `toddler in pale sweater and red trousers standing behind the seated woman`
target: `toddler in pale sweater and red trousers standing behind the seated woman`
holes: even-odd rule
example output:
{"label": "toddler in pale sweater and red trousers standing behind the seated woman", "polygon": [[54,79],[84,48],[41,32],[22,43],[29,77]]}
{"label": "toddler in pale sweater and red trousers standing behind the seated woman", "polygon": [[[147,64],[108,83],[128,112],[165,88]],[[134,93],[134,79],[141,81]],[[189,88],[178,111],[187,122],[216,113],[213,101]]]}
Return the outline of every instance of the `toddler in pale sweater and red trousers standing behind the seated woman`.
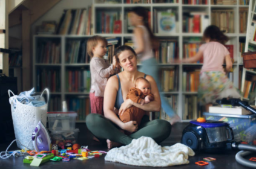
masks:
{"label": "toddler in pale sweater and red trousers standing behind the seated woman", "polygon": [[113,57],[113,65],[108,60],[103,59],[107,52],[107,40],[101,36],[90,37],[87,41],[87,51],[91,58],[91,90],[90,103],[91,113],[104,115],[103,113],[103,95],[105,86],[110,75],[118,72],[116,57]]}

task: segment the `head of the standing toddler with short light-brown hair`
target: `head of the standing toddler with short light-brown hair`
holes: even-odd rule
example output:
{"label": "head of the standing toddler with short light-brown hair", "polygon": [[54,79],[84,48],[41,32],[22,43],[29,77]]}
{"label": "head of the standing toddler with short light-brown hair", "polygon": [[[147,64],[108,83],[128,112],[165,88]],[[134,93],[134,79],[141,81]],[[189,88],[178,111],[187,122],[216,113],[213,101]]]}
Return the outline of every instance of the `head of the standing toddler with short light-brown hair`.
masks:
{"label": "head of the standing toddler with short light-brown hair", "polygon": [[108,45],[107,39],[102,36],[92,36],[87,40],[87,52],[90,57],[93,57],[94,54],[99,56],[104,56],[106,53],[106,47]]}

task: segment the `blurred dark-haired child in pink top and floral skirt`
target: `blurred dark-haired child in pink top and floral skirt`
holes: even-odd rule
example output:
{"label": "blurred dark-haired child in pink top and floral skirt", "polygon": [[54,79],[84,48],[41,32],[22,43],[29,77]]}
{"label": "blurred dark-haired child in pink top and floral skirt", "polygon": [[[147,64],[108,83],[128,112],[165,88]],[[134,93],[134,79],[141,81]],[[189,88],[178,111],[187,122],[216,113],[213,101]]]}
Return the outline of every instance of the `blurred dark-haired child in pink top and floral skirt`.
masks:
{"label": "blurred dark-haired child in pink top and floral skirt", "polygon": [[203,57],[203,67],[200,72],[198,98],[205,104],[206,112],[217,99],[223,97],[240,98],[240,92],[226,76],[223,69],[226,61],[226,72],[232,68],[232,61],[228,49],[224,46],[228,37],[214,25],[207,27],[203,33],[205,44],[200,46],[194,57],[183,59],[183,63],[193,63]]}

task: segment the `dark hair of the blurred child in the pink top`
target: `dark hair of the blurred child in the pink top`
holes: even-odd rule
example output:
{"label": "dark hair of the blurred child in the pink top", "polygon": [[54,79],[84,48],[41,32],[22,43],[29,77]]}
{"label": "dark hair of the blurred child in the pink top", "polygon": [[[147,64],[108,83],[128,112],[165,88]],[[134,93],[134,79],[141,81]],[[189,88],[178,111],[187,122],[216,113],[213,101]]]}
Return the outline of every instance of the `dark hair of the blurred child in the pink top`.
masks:
{"label": "dark hair of the blurred child in the pink top", "polygon": [[215,25],[210,25],[205,29],[203,32],[203,40],[206,38],[209,38],[210,41],[222,43],[222,45],[225,45],[225,43],[229,40],[228,36],[226,36],[220,30],[220,28],[216,27]]}

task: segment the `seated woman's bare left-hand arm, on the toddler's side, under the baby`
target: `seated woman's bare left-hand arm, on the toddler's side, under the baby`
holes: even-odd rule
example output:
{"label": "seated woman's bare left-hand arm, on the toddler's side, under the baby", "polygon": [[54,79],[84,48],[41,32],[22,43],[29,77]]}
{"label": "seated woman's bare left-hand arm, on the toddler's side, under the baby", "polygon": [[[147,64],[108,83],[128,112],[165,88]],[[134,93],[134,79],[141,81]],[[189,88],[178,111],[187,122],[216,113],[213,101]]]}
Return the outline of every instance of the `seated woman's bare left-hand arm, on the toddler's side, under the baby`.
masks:
{"label": "seated woman's bare left-hand arm, on the toddler's side, under the baby", "polygon": [[116,95],[118,91],[118,79],[116,76],[110,77],[107,82],[107,86],[104,92],[104,101],[103,101],[103,110],[104,116],[112,121],[114,124],[119,126],[123,130],[127,130],[128,132],[135,132],[138,128],[136,121],[129,121],[127,123],[123,123],[117,117],[116,113],[114,113],[114,103],[116,101]]}

